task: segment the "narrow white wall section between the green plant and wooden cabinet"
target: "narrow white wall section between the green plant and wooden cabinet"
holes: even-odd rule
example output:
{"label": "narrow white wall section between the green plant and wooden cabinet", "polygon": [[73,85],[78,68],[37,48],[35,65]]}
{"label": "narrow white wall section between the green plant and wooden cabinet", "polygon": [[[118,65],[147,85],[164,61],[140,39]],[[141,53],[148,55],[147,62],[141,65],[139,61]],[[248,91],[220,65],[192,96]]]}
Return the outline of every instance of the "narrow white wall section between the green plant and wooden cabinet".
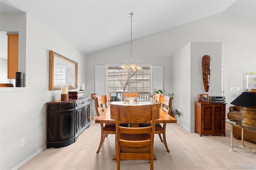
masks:
{"label": "narrow white wall section between the green plant and wooden cabinet", "polygon": [[180,50],[176,51],[172,55],[172,66],[171,66],[171,91],[175,92],[174,99],[172,101],[172,107],[178,109],[181,112],[182,116],[175,117],[180,125],[182,125],[187,130],[190,130],[190,98],[192,91],[191,89],[191,80],[194,77],[191,76],[191,67],[192,63],[196,66],[196,62],[191,58],[191,44],[188,43]]}

